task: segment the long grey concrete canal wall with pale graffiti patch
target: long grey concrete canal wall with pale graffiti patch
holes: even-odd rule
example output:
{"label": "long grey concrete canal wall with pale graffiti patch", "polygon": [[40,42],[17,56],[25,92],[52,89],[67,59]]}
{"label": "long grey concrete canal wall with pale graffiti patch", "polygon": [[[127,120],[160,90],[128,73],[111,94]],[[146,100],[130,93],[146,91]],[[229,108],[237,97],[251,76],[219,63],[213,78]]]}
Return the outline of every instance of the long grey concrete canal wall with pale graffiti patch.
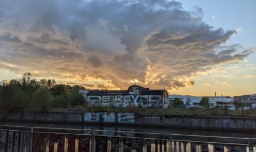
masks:
{"label": "long grey concrete canal wall with pale graffiti patch", "polygon": [[51,123],[120,124],[147,127],[256,131],[256,118],[228,116],[174,116],[113,112],[13,112],[3,120]]}

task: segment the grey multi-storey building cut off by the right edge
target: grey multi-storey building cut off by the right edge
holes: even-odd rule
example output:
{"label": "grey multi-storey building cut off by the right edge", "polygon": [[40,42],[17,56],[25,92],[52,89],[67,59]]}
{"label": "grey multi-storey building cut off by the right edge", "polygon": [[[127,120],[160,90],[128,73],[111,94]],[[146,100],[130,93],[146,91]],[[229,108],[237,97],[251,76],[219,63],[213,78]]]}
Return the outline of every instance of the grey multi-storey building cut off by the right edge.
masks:
{"label": "grey multi-storey building cut off by the right edge", "polygon": [[234,102],[241,102],[244,107],[256,108],[256,94],[234,96]]}

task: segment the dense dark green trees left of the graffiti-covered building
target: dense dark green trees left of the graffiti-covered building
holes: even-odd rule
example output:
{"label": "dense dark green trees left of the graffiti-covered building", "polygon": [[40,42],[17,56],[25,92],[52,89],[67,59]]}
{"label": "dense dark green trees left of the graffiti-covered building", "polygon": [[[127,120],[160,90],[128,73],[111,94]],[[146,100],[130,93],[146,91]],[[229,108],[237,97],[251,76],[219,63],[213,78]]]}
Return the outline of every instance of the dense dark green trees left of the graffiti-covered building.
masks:
{"label": "dense dark green trees left of the graffiti-covered building", "polygon": [[33,79],[31,73],[24,73],[20,80],[10,80],[0,85],[0,111],[69,108],[85,104],[80,85],[56,84],[55,80]]}

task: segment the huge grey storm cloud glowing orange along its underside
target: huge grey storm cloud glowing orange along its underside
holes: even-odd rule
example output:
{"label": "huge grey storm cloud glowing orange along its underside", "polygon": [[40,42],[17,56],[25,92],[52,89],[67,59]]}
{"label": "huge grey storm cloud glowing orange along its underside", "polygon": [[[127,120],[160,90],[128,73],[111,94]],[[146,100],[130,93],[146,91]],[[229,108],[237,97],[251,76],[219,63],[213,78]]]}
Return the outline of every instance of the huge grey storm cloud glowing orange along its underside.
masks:
{"label": "huge grey storm cloud glowing orange along its underside", "polygon": [[0,6],[0,61],[17,65],[13,72],[39,71],[87,87],[127,88],[134,81],[177,89],[194,85],[192,73],[253,52],[228,46],[234,30],[214,29],[202,22],[201,8],[186,11],[175,1],[0,0]]}

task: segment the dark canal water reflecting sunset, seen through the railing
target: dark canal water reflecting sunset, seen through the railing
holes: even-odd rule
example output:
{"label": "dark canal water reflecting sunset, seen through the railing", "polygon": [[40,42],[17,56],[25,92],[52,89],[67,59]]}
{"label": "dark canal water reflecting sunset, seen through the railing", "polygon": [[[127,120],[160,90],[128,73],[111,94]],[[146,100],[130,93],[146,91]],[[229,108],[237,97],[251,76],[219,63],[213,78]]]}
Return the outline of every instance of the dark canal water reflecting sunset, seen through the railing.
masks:
{"label": "dark canal water reflecting sunset, seen through the railing", "polygon": [[255,151],[256,132],[0,122],[0,152]]}

